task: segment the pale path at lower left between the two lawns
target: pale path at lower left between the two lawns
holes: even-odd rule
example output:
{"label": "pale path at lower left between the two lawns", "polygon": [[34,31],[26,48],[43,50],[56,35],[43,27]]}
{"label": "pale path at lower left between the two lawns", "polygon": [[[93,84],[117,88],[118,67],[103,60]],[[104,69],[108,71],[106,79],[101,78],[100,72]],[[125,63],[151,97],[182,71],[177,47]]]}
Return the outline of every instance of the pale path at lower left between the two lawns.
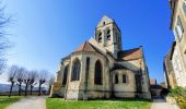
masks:
{"label": "pale path at lower left between the two lawns", "polygon": [[19,102],[8,106],[5,109],[46,109],[45,98],[45,96],[26,97]]}

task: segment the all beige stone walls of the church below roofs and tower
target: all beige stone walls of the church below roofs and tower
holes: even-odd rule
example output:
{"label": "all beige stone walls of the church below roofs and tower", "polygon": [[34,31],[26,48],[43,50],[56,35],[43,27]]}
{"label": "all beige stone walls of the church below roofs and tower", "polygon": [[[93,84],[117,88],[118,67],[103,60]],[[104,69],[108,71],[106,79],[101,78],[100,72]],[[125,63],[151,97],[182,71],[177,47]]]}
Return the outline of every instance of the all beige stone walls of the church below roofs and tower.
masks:
{"label": "all beige stone walls of the church below roofs and tower", "polygon": [[[79,59],[81,62],[81,72],[80,80],[71,82],[71,69],[72,63],[75,59]],[[90,58],[90,69],[88,72],[88,86],[85,85],[85,68],[86,68],[86,58]],[[100,60],[103,66],[103,84],[95,85],[94,84],[94,68],[95,62]],[[139,64],[141,59],[131,60],[127,62],[120,62],[123,65],[133,70],[120,70],[117,71],[120,75],[127,75],[127,83],[121,83],[121,76],[119,76],[120,83],[114,84],[114,75],[115,73],[109,72],[111,68],[114,65],[114,60],[111,57],[100,55],[97,52],[78,52],[72,53],[68,60],[65,60],[60,66],[60,70],[57,73],[57,80],[53,87],[53,94],[58,94],[60,96],[65,96],[66,99],[95,99],[95,98],[109,98],[114,92],[115,97],[135,97],[136,94],[136,80],[135,80],[135,70],[139,70]],[[67,78],[67,85],[62,87],[62,78],[63,78],[63,70],[65,66],[69,64],[69,72]],[[142,64],[143,65],[143,64]],[[144,70],[144,65],[142,70]],[[148,76],[146,75],[147,71],[143,71],[143,80],[148,82]],[[143,83],[144,83],[143,82]],[[58,85],[57,85],[58,84]],[[59,85],[60,84],[60,85]],[[148,97],[148,84],[142,84],[143,93],[140,95],[142,97]]]}

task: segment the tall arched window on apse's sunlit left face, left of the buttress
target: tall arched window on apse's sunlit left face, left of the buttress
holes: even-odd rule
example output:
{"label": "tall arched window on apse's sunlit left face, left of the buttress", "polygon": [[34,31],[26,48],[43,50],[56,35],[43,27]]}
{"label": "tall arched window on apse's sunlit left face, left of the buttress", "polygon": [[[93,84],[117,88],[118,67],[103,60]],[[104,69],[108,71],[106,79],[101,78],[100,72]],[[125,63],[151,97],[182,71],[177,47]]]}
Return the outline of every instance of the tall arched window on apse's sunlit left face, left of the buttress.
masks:
{"label": "tall arched window on apse's sunlit left face, left of the buttress", "polygon": [[81,63],[79,59],[75,59],[72,64],[72,74],[71,74],[71,81],[79,81],[80,78],[80,69]]}

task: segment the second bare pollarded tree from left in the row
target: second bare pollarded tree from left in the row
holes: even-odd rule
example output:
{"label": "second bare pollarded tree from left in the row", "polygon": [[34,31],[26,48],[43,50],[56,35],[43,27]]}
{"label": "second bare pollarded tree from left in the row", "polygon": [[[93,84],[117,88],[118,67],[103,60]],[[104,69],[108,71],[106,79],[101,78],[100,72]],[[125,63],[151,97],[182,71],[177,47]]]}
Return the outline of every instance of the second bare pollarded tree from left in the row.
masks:
{"label": "second bare pollarded tree from left in the row", "polygon": [[23,80],[24,80],[24,74],[25,74],[25,69],[24,68],[19,68],[18,69],[18,73],[16,73],[16,82],[19,84],[19,96],[21,96],[21,87],[22,87],[22,83],[23,83]]}

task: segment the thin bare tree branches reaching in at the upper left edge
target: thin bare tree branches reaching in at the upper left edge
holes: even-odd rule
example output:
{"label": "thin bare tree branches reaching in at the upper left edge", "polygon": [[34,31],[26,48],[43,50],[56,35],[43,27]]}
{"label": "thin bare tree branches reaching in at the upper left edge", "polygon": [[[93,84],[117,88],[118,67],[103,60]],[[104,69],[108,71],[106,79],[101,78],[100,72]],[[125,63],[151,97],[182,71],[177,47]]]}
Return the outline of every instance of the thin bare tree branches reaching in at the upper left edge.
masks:
{"label": "thin bare tree branches reaching in at the upper left edge", "polygon": [[5,26],[10,23],[11,16],[4,14],[4,8],[2,7],[2,2],[0,2],[0,74],[2,73],[5,66],[5,50],[10,47],[8,38],[5,37]]}

